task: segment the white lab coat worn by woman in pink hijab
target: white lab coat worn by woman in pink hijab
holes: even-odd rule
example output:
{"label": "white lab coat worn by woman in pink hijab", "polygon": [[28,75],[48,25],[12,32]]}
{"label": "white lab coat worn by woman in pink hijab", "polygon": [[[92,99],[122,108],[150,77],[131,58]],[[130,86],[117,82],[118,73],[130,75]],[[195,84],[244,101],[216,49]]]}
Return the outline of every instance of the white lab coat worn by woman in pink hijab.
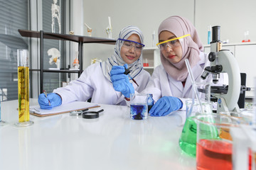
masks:
{"label": "white lab coat worn by woman in pink hijab", "polygon": [[[204,68],[210,66],[208,55],[201,52],[200,57],[201,60],[198,62],[198,64],[196,64],[196,66],[192,68],[193,77],[196,82],[210,82],[212,84],[211,74],[209,74],[209,76],[205,80],[201,79]],[[219,83],[215,84],[215,86],[221,84],[222,82],[223,77],[220,77]],[[186,109],[186,100],[194,96],[192,81],[190,77],[187,77],[186,84],[183,87],[181,81],[176,81],[175,79],[171,78],[169,74],[166,73],[162,64],[154,69],[149,84],[146,86],[146,89],[142,91],[142,93],[153,94],[153,99],[155,102],[163,96],[178,97],[183,102],[183,108],[181,108],[181,110]],[[203,97],[201,93],[199,95],[200,98]]]}

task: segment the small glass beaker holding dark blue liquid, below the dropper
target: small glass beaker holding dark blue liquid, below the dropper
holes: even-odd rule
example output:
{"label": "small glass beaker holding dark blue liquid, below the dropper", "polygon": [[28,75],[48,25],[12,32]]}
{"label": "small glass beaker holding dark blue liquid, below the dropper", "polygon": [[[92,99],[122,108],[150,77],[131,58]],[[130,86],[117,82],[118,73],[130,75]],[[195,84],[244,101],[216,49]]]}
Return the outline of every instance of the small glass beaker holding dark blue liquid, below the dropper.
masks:
{"label": "small glass beaker holding dark blue liquid, below the dropper", "polygon": [[144,120],[148,115],[149,94],[131,94],[130,95],[130,118],[134,120]]}

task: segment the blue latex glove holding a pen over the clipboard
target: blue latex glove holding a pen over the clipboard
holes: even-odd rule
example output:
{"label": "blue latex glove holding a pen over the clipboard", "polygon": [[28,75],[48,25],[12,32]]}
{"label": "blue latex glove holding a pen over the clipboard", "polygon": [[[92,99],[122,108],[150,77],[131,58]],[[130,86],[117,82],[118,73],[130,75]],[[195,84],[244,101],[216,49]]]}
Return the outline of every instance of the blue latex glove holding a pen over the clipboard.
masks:
{"label": "blue latex glove holding a pen over the clipboard", "polygon": [[[49,101],[50,101],[50,105],[49,105]],[[50,93],[47,95],[47,98],[45,94],[40,94],[38,96],[38,103],[40,105],[40,108],[50,110],[53,107],[60,106],[62,101],[60,96],[58,96],[58,94]]]}

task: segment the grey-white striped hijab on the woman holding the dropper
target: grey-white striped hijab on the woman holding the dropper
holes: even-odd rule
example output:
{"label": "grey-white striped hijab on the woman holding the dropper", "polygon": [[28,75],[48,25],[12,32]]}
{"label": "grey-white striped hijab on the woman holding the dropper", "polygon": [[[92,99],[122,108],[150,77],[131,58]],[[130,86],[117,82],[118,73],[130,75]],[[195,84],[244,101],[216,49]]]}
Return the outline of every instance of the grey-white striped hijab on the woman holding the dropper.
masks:
{"label": "grey-white striped hijab on the woman holding the dropper", "polygon": [[[132,34],[139,35],[139,39],[141,40],[141,43],[143,44],[143,34],[142,31],[139,30],[136,26],[127,26],[123,28],[120,33],[119,37],[121,39],[126,40],[131,36]],[[102,73],[105,75],[105,77],[111,82],[110,80],[110,71],[114,65],[121,65],[127,64],[122,60],[122,57],[120,55],[120,50],[122,47],[124,41],[117,40],[115,46],[114,46],[114,54],[107,59],[107,61],[100,63],[102,68]],[[134,78],[136,77],[140,72],[142,72],[142,54],[140,55],[139,59],[132,64],[128,64],[128,68],[131,71],[129,74]]]}

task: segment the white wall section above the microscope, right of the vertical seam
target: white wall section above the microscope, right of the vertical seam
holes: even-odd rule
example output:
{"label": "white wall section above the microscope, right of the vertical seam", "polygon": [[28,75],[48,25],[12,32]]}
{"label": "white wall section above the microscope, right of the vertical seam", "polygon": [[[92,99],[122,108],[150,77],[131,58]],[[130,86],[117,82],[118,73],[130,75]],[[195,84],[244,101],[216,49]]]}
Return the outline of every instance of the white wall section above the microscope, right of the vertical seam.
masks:
{"label": "white wall section above the microscope, right of the vertical seam", "polygon": [[203,44],[207,44],[208,26],[220,26],[220,40],[239,43],[249,30],[256,41],[255,0],[196,0],[196,29]]}

